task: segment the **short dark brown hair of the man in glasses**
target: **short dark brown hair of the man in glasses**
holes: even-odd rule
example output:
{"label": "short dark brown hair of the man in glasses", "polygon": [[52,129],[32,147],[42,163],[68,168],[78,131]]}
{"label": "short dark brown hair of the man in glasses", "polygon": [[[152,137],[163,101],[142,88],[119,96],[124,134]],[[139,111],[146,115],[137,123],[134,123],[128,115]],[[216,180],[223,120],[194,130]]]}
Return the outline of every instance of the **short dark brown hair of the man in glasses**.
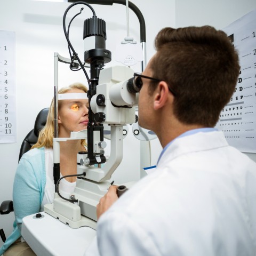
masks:
{"label": "short dark brown hair of the man in glasses", "polygon": [[213,127],[235,90],[240,69],[227,35],[210,26],[164,28],[155,48],[150,69],[176,92],[174,115],[185,124]]}

